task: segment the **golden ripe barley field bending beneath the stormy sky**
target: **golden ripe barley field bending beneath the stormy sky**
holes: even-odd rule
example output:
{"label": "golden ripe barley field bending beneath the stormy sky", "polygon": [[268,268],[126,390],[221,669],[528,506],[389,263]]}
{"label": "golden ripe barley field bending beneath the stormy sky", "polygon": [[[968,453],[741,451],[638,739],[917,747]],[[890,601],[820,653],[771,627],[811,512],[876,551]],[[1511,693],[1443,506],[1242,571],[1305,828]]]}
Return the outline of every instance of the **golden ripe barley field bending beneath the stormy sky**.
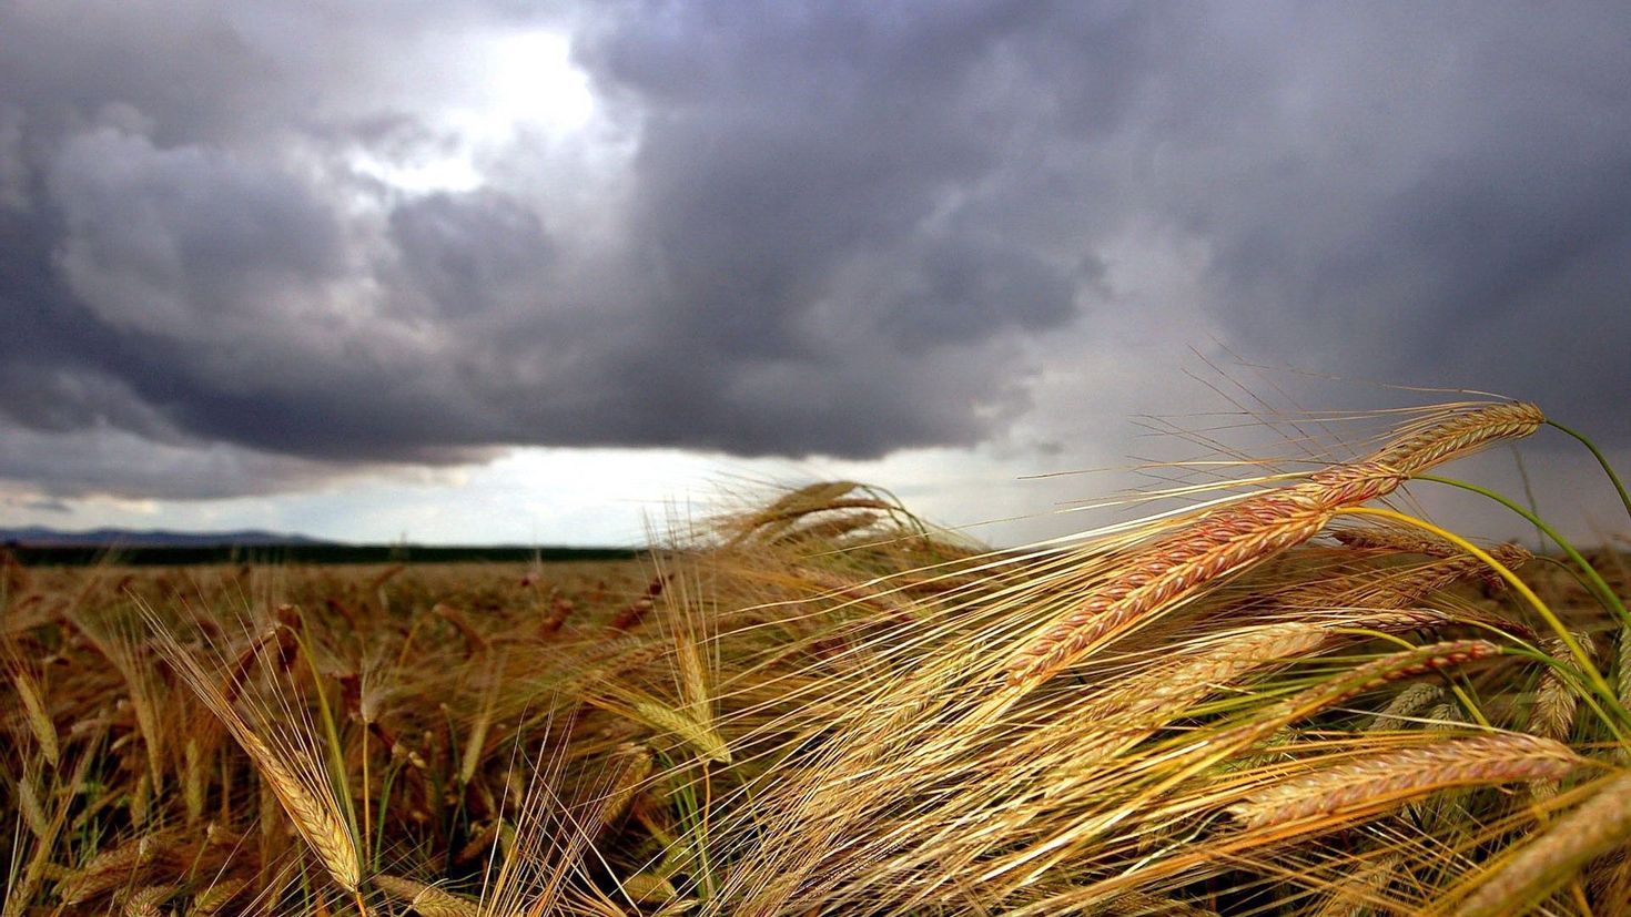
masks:
{"label": "golden ripe barley field bending beneath the stormy sky", "polygon": [[1386,420],[1018,551],[830,482],[634,560],[8,559],[3,915],[1631,914],[1628,560],[1404,498],[1533,406]]}

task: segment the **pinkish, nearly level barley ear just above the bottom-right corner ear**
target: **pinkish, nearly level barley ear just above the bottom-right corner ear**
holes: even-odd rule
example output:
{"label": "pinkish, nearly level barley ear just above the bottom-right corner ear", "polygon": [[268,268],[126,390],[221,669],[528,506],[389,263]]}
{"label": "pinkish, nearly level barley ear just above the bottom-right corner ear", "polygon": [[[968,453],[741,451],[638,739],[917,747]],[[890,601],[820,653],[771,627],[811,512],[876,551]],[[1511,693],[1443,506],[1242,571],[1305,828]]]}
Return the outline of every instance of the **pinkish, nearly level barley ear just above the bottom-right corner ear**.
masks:
{"label": "pinkish, nearly level barley ear just above the bottom-right corner ear", "polygon": [[1450,787],[1561,780],[1584,759],[1569,746],[1505,733],[1388,751],[1266,787],[1227,811],[1246,829],[1334,813],[1383,811]]}

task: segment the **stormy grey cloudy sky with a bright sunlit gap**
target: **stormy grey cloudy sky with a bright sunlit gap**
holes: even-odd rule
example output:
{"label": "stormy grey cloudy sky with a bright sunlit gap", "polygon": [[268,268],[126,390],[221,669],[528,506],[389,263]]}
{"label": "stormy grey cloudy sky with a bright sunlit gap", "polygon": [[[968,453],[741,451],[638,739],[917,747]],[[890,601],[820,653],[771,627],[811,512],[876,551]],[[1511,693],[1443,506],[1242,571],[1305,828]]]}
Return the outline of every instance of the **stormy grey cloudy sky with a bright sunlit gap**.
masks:
{"label": "stormy grey cloudy sky with a bright sunlit gap", "polygon": [[0,0],[0,524],[1016,544],[1390,386],[1631,466],[1626,86],[1611,2]]}

